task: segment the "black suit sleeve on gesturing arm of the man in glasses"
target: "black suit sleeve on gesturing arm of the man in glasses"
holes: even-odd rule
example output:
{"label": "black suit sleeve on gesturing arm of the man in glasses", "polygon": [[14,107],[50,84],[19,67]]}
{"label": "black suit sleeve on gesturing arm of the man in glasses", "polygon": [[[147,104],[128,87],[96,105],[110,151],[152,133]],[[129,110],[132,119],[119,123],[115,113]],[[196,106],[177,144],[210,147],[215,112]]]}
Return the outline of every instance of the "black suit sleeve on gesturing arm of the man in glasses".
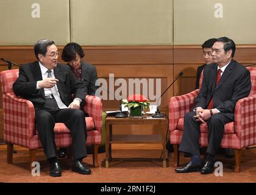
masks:
{"label": "black suit sleeve on gesturing arm of the man in glasses", "polygon": [[13,92],[17,96],[37,93],[37,82],[29,81],[27,70],[23,66],[20,67],[20,73],[17,80],[13,83]]}

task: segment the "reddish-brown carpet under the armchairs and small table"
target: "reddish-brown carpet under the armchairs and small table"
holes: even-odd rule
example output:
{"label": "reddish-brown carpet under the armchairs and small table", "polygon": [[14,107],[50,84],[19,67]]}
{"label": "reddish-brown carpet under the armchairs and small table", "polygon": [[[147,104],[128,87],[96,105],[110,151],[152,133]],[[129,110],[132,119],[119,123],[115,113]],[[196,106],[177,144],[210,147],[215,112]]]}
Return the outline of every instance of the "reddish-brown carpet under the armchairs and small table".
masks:
{"label": "reddish-brown carpet under the armchairs and small table", "polygon": [[[224,165],[223,176],[209,174],[202,176],[200,172],[188,174],[176,174],[174,172],[173,158],[169,158],[167,168],[163,168],[161,161],[145,161],[143,158],[159,158],[160,150],[114,150],[112,157],[137,157],[138,161],[112,161],[110,168],[100,166],[93,168],[92,155],[88,155],[84,162],[92,169],[92,174],[84,176],[72,172],[69,160],[60,160],[62,167],[62,177],[50,177],[49,167],[43,151],[37,152],[37,160],[40,161],[40,177],[33,177],[29,172],[29,152],[26,149],[19,149],[13,154],[13,165],[6,163],[6,151],[0,150],[0,182],[88,182],[88,183],[177,183],[177,182],[254,182],[256,183],[256,149],[243,151],[242,171],[233,172],[234,158],[224,158],[222,155],[216,156],[216,161],[221,161]],[[105,154],[99,154],[99,161],[103,161]],[[181,154],[181,162],[185,163],[189,158],[184,158]]]}

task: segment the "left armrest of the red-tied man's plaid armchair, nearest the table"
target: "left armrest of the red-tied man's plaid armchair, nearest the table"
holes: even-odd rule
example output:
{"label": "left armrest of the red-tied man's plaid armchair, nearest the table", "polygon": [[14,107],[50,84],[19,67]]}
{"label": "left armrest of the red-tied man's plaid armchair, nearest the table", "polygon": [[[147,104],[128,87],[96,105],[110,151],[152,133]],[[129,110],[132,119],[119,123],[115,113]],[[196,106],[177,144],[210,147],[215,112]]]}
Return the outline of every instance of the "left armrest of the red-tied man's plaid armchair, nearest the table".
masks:
{"label": "left armrest of the red-tied man's plaid armchair, nearest the table", "polygon": [[179,118],[191,111],[199,90],[191,91],[182,96],[174,96],[169,99],[169,131],[176,129]]}

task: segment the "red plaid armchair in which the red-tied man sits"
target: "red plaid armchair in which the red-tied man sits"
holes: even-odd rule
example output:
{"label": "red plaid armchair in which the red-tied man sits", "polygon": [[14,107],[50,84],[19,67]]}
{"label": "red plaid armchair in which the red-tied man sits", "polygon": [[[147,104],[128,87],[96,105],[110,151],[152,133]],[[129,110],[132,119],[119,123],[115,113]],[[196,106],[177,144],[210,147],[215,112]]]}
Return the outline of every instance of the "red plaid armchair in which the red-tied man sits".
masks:
{"label": "red plaid armchair in which the red-tied man sits", "polygon": [[[247,68],[251,73],[252,90],[247,98],[240,99],[235,106],[235,120],[225,124],[224,137],[221,147],[234,149],[235,151],[235,169],[234,172],[241,171],[241,152],[247,146],[256,144],[256,68]],[[202,74],[200,85],[202,83]],[[190,112],[194,106],[194,99],[199,90],[182,96],[176,96],[169,99],[169,132],[170,143],[174,144],[174,161],[179,166],[179,151],[183,135],[183,117],[185,113]],[[207,124],[201,124],[200,146],[208,145],[208,127]]]}

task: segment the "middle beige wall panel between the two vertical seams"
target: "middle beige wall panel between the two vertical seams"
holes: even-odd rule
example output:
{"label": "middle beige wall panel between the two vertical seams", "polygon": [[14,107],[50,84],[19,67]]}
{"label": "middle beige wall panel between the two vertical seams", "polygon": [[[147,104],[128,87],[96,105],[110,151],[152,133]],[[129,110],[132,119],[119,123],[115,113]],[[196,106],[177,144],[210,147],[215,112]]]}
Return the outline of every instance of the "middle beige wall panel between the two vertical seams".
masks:
{"label": "middle beige wall panel between the two vertical seams", "polygon": [[71,41],[172,44],[172,0],[71,0]]}

